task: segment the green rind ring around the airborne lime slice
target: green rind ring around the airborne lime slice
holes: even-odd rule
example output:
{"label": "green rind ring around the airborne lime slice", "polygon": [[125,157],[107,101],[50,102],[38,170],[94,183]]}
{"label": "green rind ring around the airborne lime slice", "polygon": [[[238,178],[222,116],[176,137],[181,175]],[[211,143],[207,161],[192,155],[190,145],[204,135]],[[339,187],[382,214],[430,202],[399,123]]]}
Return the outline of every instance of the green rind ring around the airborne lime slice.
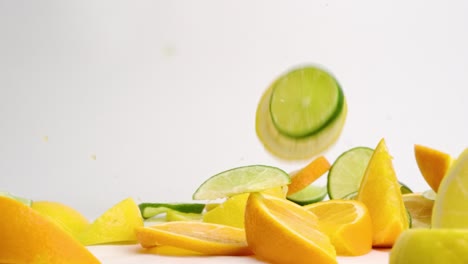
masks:
{"label": "green rind ring around the airborne lime slice", "polygon": [[[293,131],[287,131],[287,129],[284,129],[282,128],[282,126],[276,122],[274,116],[275,113],[274,113],[274,110],[273,110],[273,104],[274,104],[274,99],[275,99],[275,92],[279,89],[279,86],[278,84],[284,80],[285,78],[290,78],[290,76],[292,74],[295,74],[299,71],[315,71],[315,72],[319,72],[320,74],[323,74],[324,76],[326,76],[327,78],[329,78],[330,81],[332,81],[334,84],[335,84],[335,87],[332,87],[332,88],[336,88],[336,91],[332,91],[332,92],[336,92],[336,103],[329,107],[329,108],[333,108],[333,111],[329,114],[329,116],[325,117],[324,120],[322,120],[322,122],[318,123],[316,126],[313,126],[309,129],[306,129],[304,131],[299,131],[299,132],[293,132]],[[316,74],[316,73],[314,73]],[[272,120],[272,123],[274,125],[274,127],[276,128],[276,130],[286,136],[286,137],[289,137],[289,138],[293,138],[293,139],[301,139],[301,138],[307,138],[307,137],[311,137],[317,133],[319,133],[322,129],[324,129],[325,127],[327,127],[328,125],[330,125],[331,123],[333,123],[333,121],[335,121],[339,114],[341,113],[341,111],[343,110],[343,105],[344,105],[344,94],[343,94],[343,90],[341,89],[341,86],[340,84],[338,83],[338,81],[336,80],[336,78],[334,76],[331,75],[331,73],[325,71],[324,69],[321,69],[319,67],[315,67],[315,66],[305,66],[305,67],[300,67],[300,68],[297,68],[297,69],[294,69],[294,70],[291,70],[289,71],[288,73],[284,74],[283,76],[281,76],[280,78],[278,78],[275,82],[274,82],[274,85],[273,85],[273,91],[271,93],[271,96],[270,96],[270,100],[269,100],[269,112],[270,112],[270,118]]]}

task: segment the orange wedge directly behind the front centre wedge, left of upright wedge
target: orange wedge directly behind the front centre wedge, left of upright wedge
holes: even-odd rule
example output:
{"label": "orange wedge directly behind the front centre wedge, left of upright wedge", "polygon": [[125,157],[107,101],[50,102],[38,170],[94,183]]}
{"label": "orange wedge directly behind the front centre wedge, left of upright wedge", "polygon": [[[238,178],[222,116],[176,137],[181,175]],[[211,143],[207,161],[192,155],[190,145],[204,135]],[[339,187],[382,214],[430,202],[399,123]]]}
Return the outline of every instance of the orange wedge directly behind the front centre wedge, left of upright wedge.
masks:
{"label": "orange wedge directly behind the front centre wedge, left of upright wedge", "polygon": [[355,200],[330,200],[304,207],[319,218],[340,256],[360,256],[372,249],[372,221],[367,207]]}

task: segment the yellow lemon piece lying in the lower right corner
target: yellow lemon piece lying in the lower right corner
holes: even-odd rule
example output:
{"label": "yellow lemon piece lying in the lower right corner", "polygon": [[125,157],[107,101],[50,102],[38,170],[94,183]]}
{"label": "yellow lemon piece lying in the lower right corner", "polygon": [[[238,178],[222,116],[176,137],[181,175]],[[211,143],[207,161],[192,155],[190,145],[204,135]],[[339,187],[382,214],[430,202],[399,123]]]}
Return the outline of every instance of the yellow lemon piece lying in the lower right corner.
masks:
{"label": "yellow lemon piece lying in the lower right corner", "polygon": [[406,230],[393,246],[389,263],[468,263],[468,230]]}

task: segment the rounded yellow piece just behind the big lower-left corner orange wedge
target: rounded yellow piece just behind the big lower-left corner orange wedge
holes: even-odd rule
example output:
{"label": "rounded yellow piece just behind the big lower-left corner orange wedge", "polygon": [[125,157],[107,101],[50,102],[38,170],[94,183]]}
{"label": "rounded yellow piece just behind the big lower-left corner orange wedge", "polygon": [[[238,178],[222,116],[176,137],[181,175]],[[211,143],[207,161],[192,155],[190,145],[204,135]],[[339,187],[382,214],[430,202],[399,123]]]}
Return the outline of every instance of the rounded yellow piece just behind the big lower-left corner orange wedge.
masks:
{"label": "rounded yellow piece just behind the big lower-left corner orange wedge", "polygon": [[34,201],[31,207],[42,215],[50,217],[74,237],[78,237],[88,225],[88,219],[76,209],[60,202]]}

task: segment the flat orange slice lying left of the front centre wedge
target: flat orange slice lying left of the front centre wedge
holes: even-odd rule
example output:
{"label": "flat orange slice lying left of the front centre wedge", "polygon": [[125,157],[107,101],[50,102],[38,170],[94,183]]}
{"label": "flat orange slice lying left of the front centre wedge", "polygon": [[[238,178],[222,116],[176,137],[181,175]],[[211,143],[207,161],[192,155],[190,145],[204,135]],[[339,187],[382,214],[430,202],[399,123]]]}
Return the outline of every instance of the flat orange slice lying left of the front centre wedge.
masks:
{"label": "flat orange slice lying left of the front centre wedge", "polygon": [[[204,222],[167,222],[135,229],[143,248],[167,246],[204,255],[250,255],[245,231]],[[156,252],[158,250],[156,249]]]}

